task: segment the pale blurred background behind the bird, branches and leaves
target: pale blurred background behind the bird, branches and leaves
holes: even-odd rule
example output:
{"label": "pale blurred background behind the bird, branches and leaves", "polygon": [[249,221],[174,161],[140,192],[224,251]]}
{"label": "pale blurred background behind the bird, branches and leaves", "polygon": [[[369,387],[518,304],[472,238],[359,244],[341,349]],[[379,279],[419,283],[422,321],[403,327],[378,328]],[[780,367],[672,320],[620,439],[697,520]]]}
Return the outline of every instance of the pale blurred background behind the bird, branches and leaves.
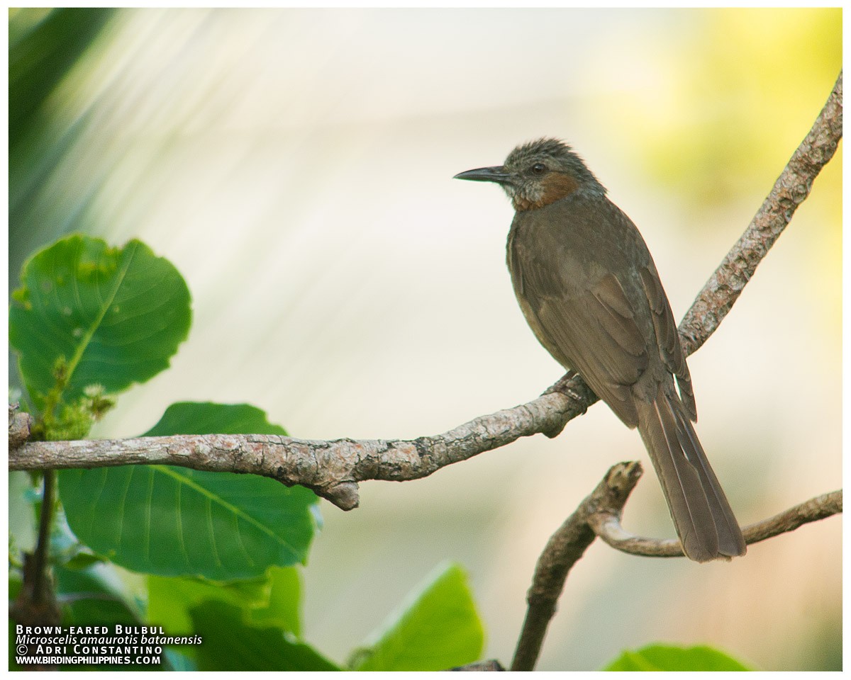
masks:
{"label": "pale blurred background behind the bird, branches and leaves", "polygon": [[[442,433],[563,372],[511,291],[509,202],[452,176],[568,140],[642,230],[680,318],[830,93],[841,11],[12,9],[10,286],[71,231],[139,238],[186,277],[189,340],[98,436],[143,432],[180,400],[249,402],[301,438]],[[689,360],[742,524],[842,485],[841,156]],[[546,539],[635,458],[649,467],[596,405],[557,439],[363,484],[351,513],[323,501],[306,638],[345,660],[450,559],[486,654],[509,662]],[[625,525],[673,536],[652,473]],[[539,667],[665,641],[839,669],[841,539],[828,519],[703,566],[595,544]]]}

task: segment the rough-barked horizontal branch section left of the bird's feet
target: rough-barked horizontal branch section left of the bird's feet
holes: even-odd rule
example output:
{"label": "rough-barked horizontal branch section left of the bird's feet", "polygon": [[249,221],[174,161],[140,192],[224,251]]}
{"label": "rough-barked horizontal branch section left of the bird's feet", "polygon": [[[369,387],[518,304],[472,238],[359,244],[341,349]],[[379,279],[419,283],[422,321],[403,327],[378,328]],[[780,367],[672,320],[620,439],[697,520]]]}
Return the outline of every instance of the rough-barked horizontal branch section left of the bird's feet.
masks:
{"label": "rough-barked horizontal branch section left of the bird's feet", "polygon": [[510,444],[564,421],[561,394],[489,416],[434,437],[412,440],[295,439],[277,434],[186,434],[135,439],[39,441],[9,449],[10,470],[116,465],[178,465],[252,473],[301,484],[344,510],[357,507],[357,483],[420,479],[441,467]]}

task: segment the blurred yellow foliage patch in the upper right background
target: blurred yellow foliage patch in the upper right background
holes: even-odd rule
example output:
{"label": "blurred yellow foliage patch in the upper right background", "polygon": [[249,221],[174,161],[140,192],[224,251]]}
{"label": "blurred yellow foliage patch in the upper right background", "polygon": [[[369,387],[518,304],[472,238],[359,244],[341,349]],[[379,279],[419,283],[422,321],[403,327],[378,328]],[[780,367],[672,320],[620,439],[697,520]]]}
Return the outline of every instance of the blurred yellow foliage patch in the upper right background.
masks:
{"label": "blurred yellow foliage patch in the upper right background", "polygon": [[[656,64],[670,91],[637,100],[620,121],[643,139],[650,172],[707,206],[768,190],[780,173],[842,67],[842,10],[700,11],[704,20],[681,37],[682,59]],[[830,174],[829,190],[840,190],[840,174]]]}

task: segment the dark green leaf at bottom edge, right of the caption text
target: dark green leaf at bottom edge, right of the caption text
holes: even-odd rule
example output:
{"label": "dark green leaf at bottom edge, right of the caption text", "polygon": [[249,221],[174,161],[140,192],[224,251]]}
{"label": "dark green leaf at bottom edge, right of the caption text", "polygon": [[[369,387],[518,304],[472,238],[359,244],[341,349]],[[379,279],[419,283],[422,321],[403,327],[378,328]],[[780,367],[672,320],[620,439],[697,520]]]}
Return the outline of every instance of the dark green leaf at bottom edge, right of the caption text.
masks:
{"label": "dark green leaf at bottom edge, right of the caption text", "polygon": [[294,642],[278,628],[247,626],[240,610],[207,602],[191,611],[201,671],[339,671],[310,645]]}

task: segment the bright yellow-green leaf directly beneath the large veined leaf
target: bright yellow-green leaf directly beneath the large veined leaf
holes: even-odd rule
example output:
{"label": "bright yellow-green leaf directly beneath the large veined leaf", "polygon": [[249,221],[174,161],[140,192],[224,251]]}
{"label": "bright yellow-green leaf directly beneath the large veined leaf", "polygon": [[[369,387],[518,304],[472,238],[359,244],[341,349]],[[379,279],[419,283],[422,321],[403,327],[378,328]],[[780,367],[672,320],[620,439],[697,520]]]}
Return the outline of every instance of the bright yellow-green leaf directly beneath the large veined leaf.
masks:
{"label": "bright yellow-green leaf directly beneath the large veined leaf", "polygon": [[300,636],[301,577],[294,567],[272,567],[262,579],[232,583],[148,577],[148,621],[169,634],[190,633],[190,610],[210,600],[240,607],[251,625]]}

